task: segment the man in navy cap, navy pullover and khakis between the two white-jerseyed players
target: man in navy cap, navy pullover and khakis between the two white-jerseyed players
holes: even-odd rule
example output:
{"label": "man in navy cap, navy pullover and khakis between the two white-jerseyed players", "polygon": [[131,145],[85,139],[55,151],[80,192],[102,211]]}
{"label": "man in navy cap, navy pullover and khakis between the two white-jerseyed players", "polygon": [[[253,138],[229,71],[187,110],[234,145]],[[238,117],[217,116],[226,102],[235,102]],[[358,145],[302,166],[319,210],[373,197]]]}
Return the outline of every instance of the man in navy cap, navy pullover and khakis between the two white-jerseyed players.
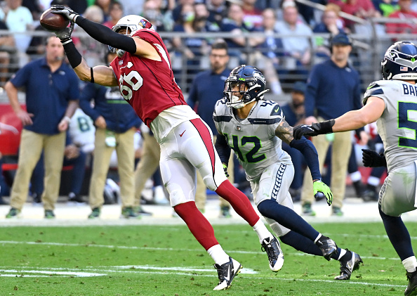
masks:
{"label": "man in navy cap, navy pullover and khakis between the two white-jerseyed players", "polygon": [[[321,122],[338,117],[350,110],[362,107],[359,73],[349,63],[352,41],[348,35],[339,33],[331,41],[331,57],[312,68],[307,80],[305,92],[305,124]],[[368,141],[364,129],[358,129],[357,135],[362,144]],[[331,191],[333,192],[332,214],[342,216],[343,198],[345,198],[346,172],[352,150],[350,131],[338,134],[326,134],[312,139],[319,155],[320,169],[324,164],[329,146],[331,150]],[[306,169],[303,181],[301,202],[303,214],[314,216],[312,210],[312,186],[308,184],[310,170]],[[311,183],[311,182],[310,182]],[[311,197],[310,197],[311,195]]]}

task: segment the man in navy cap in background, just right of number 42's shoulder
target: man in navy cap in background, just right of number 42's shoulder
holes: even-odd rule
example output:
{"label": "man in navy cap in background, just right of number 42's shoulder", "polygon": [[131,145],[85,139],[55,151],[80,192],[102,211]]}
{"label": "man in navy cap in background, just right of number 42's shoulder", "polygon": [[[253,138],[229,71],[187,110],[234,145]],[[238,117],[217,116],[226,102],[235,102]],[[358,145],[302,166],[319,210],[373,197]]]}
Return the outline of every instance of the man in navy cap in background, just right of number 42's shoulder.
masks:
{"label": "man in navy cap in background, just right of number 42's shoulder", "polygon": [[[291,101],[282,106],[282,111],[285,115],[285,120],[291,127],[296,127],[298,124],[304,122],[305,109],[304,98],[307,85],[304,82],[296,82],[293,84],[291,90]],[[287,143],[282,142],[282,149],[291,156],[291,161],[294,165],[294,178],[291,183],[289,193],[293,202],[300,201],[301,190],[303,186],[303,176],[305,161],[303,154],[295,148],[291,148]]]}

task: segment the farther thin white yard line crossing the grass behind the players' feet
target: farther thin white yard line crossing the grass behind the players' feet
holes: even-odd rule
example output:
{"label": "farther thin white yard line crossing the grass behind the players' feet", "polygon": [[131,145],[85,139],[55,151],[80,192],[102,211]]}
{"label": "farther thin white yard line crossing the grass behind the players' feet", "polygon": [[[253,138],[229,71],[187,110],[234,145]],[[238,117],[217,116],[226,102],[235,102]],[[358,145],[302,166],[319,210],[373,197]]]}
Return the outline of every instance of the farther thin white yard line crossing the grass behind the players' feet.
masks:
{"label": "farther thin white yard line crossing the grass behind the players' feet", "polygon": [[[81,244],[81,243],[37,243],[37,242],[19,242],[14,240],[0,240],[0,244],[14,244],[14,245],[57,245],[62,247],[106,247],[108,249],[126,249],[126,250],[152,250],[152,251],[175,251],[175,252],[204,252],[201,249],[180,249],[173,247],[135,247],[135,246],[126,246],[126,245],[95,245],[95,244]],[[263,252],[258,251],[239,251],[239,250],[226,250],[228,253],[235,254],[263,254]],[[296,255],[296,256],[314,256],[311,254],[306,254],[303,252],[286,252],[286,254]],[[284,254],[285,255],[285,254]],[[380,260],[399,260],[399,258],[387,258],[387,257],[364,257],[362,259],[380,259]]]}

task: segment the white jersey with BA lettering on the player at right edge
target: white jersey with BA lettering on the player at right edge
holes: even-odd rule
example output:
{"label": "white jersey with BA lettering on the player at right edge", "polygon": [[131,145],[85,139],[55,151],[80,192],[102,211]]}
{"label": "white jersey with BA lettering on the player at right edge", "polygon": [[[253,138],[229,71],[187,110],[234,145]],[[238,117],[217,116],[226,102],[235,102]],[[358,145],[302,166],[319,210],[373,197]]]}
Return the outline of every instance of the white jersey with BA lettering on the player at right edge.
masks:
{"label": "white jersey with BA lettering on the player at right edge", "polygon": [[417,85],[400,80],[379,80],[369,84],[369,97],[383,99],[385,110],[376,121],[383,140],[388,172],[417,160]]}

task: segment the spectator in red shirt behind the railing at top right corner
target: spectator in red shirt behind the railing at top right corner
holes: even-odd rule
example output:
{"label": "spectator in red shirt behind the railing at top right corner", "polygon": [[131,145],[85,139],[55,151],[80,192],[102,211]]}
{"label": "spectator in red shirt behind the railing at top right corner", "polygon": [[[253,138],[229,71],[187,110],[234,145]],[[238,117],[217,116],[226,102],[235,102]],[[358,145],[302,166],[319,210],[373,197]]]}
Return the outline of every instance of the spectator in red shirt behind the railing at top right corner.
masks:
{"label": "spectator in red shirt behind the railing at top right corner", "polygon": [[[390,14],[390,18],[402,20],[416,20],[417,12],[411,10],[411,0],[399,0],[399,11]],[[390,34],[417,34],[416,22],[387,23],[387,33]]]}

